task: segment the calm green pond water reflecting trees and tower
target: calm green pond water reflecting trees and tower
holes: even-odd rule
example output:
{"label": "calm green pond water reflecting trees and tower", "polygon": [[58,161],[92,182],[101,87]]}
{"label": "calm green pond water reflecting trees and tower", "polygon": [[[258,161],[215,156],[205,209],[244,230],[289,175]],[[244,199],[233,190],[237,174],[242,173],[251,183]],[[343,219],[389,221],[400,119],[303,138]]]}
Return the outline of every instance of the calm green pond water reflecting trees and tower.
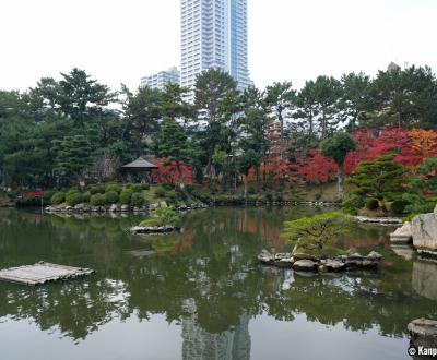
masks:
{"label": "calm green pond water reflecting trees and tower", "polygon": [[[0,211],[0,268],[37,261],[96,274],[29,288],[0,283],[1,359],[410,359],[408,323],[437,317],[437,265],[356,226],[345,248],[374,273],[264,267],[282,221],[321,209],[211,208],[180,233],[138,236],[142,217]],[[290,245],[287,245],[290,249]]]}

